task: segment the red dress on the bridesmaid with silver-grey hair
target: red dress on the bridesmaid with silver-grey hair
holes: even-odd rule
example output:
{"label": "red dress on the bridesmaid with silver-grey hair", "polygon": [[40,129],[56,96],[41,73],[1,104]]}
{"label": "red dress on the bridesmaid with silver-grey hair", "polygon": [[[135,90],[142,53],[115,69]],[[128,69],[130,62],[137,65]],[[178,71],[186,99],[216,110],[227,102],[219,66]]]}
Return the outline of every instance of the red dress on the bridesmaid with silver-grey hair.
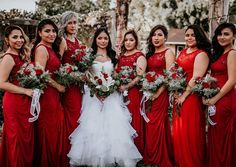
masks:
{"label": "red dress on the bridesmaid with silver-grey hair", "polygon": [[[71,58],[72,54],[75,53],[75,50],[80,46],[77,39],[75,42],[72,42],[66,39],[67,43],[67,51],[63,55],[62,63],[73,64],[73,59]],[[65,145],[64,145],[64,156],[66,158],[67,164],[69,165],[69,159],[67,158],[67,154],[70,150],[70,141],[69,136],[78,126],[78,119],[80,116],[81,110],[81,102],[82,102],[82,94],[80,91],[79,85],[71,85],[66,88],[66,92],[62,96],[62,105],[65,110]],[[67,166],[68,166],[67,165]]]}

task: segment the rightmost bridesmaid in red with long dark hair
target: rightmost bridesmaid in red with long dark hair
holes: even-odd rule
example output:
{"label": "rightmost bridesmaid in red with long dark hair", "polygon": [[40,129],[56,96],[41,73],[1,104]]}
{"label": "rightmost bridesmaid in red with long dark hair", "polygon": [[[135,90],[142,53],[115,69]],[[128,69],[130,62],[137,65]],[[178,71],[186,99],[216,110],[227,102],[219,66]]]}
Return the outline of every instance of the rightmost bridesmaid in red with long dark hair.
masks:
{"label": "rightmost bridesmaid in red with long dark hair", "polygon": [[215,105],[216,114],[211,117],[216,125],[209,125],[209,167],[233,167],[236,138],[236,50],[233,43],[236,38],[234,24],[219,25],[212,39],[213,56],[211,72],[218,81],[220,92],[206,105]]}

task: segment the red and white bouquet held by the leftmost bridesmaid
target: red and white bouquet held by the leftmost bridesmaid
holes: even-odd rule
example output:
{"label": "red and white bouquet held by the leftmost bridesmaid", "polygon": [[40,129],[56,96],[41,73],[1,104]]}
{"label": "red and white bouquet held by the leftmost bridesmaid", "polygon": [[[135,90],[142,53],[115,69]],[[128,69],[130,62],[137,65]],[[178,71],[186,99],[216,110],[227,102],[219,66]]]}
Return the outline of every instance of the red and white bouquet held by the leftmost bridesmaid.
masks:
{"label": "red and white bouquet held by the leftmost bridesmaid", "polygon": [[20,86],[42,91],[47,86],[50,75],[39,64],[24,63],[16,77]]}

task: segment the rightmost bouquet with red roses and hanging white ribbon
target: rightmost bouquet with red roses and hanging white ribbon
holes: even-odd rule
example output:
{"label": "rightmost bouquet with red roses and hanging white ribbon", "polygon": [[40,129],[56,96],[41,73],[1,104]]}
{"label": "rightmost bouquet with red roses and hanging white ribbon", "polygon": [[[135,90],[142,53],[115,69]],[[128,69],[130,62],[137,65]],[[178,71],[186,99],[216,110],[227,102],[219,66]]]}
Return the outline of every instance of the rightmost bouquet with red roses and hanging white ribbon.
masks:
{"label": "rightmost bouquet with red roses and hanging white ribbon", "polygon": [[[205,77],[197,77],[195,79],[195,85],[192,87],[192,92],[197,93],[204,99],[210,99],[215,96],[220,91],[217,86],[216,78],[212,77],[209,73]],[[215,115],[216,107],[215,105],[208,107],[208,122],[211,125],[215,125],[210,116]]]}

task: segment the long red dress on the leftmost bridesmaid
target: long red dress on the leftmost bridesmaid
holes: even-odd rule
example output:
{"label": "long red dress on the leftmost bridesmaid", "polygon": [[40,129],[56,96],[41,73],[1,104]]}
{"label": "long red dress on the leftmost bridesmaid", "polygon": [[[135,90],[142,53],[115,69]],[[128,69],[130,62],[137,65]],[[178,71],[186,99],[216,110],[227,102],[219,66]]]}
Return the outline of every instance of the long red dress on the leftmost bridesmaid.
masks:
{"label": "long red dress on the leftmost bridesmaid", "polygon": [[[18,85],[16,73],[24,63],[18,55],[10,54],[15,65],[9,82]],[[4,126],[0,146],[1,167],[31,167],[34,151],[34,124],[28,119],[31,98],[10,92],[3,96]]]}

